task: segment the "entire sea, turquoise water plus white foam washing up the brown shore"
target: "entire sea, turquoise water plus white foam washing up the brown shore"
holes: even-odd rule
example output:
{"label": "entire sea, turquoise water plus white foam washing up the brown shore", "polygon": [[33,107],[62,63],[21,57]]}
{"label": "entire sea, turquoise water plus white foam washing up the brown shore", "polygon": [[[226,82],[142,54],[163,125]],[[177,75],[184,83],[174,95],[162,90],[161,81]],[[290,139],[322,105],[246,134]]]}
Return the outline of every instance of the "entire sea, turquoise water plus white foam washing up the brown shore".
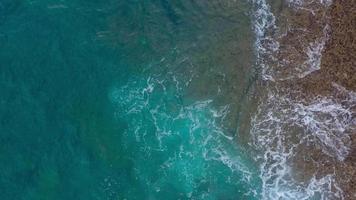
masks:
{"label": "entire sea, turquoise water plus white foam washing up the brown shore", "polygon": [[341,199],[293,159],[345,158],[355,94],[290,98],[328,26],[286,69],[271,5],[0,0],[0,199]]}

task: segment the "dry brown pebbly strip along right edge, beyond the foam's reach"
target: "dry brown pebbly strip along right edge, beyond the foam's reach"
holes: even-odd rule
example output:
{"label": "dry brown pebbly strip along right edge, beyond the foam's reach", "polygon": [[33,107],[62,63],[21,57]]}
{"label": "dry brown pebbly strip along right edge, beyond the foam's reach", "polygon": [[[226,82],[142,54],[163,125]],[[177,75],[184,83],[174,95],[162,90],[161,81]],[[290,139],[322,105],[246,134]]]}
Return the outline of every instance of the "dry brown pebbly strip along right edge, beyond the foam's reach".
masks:
{"label": "dry brown pebbly strip along right edge, beyond the foam's reach", "polygon": [[[344,87],[356,98],[356,1],[334,1],[329,10],[331,35],[321,65],[325,82]],[[353,124],[350,153],[338,168],[346,199],[356,199],[356,99],[351,102]]]}

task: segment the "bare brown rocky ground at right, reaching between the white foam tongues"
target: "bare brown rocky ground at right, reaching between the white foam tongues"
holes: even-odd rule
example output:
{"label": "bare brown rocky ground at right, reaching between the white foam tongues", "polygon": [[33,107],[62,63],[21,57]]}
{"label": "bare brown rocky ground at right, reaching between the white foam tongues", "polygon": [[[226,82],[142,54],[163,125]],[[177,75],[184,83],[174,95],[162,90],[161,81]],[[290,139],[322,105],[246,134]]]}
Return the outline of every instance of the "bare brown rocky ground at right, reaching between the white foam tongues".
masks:
{"label": "bare brown rocky ground at right, reaching between the white foam tongues", "polygon": [[[298,94],[301,94],[302,98],[317,95],[331,96],[336,101],[343,102],[345,96],[335,92],[333,83],[344,87],[350,93],[356,91],[356,1],[334,1],[326,14],[330,29],[328,30],[329,38],[322,52],[320,70],[305,78],[288,82],[287,85],[292,90],[300,91]],[[313,25],[310,26],[311,23],[307,24],[308,27],[313,27]],[[311,29],[309,28],[309,30]],[[352,110],[352,117],[355,119],[356,102],[349,102],[349,104],[351,105],[348,107]],[[324,156],[315,150],[308,152],[313,160],[317,161],[317,167],[323,168],[321,173],[335,172],[336,180],[344,191],[345,199],[354,200],[356,199],[355,127],[351,127],[344,134],[350,135],[351,149],[350,154],[343,162]],[[312,166],[314,164],[307,163],[301,167],[305,171],[314,171]]]}

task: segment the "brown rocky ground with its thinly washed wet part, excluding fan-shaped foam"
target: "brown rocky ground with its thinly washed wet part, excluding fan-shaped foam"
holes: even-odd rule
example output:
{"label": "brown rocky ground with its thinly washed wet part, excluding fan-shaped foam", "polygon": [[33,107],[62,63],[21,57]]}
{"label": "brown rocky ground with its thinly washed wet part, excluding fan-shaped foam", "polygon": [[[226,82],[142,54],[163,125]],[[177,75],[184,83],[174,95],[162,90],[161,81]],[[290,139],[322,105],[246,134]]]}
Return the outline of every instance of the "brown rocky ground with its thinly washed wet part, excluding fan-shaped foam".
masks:
{"label": "brown rocky ground with its thinly washed wet part, excluding fan-shaped foam", "polygon": [[[272,4],[279,32],[271,35],[280,44],[274,57],[266,59],[273,66],[273,84],[292,101],[308,104],[316,98],[329,98],[352,113],[351,125],[343,132],[349,136],[346,158],[340,160],[320,148],[302,144],[293,160],[293,167],[301,172],[296,178],[305,181],[315,174],[335,174],[345,199],[355,200],[356,0],[334,0],[328,6],[316,1],[305,5],[283,2]],[[320,52],[313,42],[324,44]],[[313,66],[306,63],[308,49],[316,52],[316,58],[321,54],[314,60],[314,66],[320,68],[308,71]]]}

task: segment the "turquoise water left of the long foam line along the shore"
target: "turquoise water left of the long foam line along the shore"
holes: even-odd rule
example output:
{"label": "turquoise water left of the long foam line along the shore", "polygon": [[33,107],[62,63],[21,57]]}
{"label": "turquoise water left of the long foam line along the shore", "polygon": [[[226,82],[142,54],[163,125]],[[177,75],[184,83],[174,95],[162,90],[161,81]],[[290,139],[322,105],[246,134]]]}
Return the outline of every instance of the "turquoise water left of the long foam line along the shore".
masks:
{"label": "turquoise water left of the long foam line along the shore", "polygon": [[1,0],[0,199],[259,199],[249,10]]}

